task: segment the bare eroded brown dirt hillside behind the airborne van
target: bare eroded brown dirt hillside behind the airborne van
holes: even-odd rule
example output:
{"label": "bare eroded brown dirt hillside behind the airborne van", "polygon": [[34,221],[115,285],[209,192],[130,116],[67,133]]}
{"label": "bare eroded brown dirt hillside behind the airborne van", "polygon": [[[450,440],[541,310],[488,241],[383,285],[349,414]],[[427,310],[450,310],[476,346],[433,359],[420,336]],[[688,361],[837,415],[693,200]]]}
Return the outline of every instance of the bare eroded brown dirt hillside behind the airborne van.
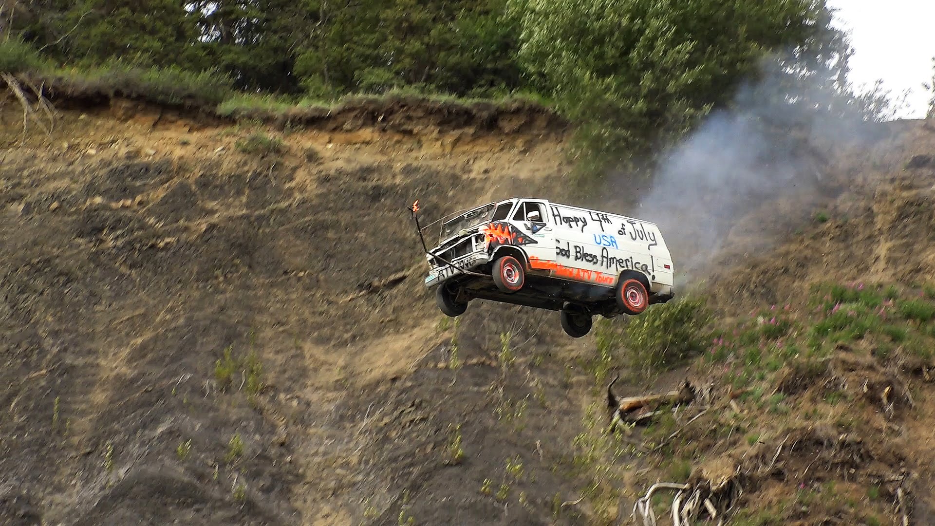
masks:
{"label": "bare eroded brown dirt hillside behind the airborne van", "polygon": [[[517,110],[485,121],[502,125],[430,112],[406,129],[307,129],[58,106],[50,135],[23,134],[15,101],[0,112],[4,523],[618,524],[666,478],[626,443],[598,451],[597,336],[486,303],[455,323],[422,285],[405,207],[418,198],[432,220],[560,200],[563,125]],[[827,221],[805,215],[758,256],[739,227],[709,303],[734,319],[829,279],[930,281],[933,156],[935,134],[904,123],[835,160]],[[927,367],[874,457],[918,477],[918,514],[935,495]],[[620,390],[685,374],[718,378],[686,368]],[[823,509],[802,523],[855,523]]]}

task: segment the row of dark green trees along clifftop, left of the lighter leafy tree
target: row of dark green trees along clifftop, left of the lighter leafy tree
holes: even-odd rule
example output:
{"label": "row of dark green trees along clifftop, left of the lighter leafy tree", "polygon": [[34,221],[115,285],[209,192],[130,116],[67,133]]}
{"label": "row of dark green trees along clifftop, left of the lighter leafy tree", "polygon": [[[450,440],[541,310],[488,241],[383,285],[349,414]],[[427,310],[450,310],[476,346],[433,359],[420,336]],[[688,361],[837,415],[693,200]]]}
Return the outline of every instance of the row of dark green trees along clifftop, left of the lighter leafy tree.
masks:
{"label": "row of dark green trees along clifftop, left of the lighter leafy tree", "polygon": [[[237,88],[336,96],[523,87],[506,0],[35,0],[5,34],[61,63],[219,68]],[[5,22],[9,19],[5,19]]]}

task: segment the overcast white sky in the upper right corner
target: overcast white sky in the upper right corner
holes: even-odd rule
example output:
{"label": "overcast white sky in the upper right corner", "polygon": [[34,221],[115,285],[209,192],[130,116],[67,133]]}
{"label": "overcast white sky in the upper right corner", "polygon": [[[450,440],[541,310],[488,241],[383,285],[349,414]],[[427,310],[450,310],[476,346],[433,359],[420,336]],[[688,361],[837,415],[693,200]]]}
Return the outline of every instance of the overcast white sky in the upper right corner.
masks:
{"label": "overcast white sky in the upper right corner", "polygon": [[925,117],[935,56],[935,0],[827,0],[838,9],[836,25],[850,33],[851,81],[872,86],[878,79],[894,97],[912,90],[899,118]]}

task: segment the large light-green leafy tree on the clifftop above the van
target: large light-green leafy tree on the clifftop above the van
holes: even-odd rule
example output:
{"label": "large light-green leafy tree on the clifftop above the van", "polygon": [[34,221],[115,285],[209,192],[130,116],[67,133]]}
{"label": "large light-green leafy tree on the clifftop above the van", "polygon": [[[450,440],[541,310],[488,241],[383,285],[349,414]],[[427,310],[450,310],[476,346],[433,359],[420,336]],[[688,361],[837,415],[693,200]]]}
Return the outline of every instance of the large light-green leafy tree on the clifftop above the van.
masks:
{"label": "large light-green leafy tree on the clifftop above the van", "polygon": [[680,137],[770,53],[802,75],[835,45],[824,0],[509,0],[509,9],[523,64],[580,124],[577,153],[600,153],[591,169]]}

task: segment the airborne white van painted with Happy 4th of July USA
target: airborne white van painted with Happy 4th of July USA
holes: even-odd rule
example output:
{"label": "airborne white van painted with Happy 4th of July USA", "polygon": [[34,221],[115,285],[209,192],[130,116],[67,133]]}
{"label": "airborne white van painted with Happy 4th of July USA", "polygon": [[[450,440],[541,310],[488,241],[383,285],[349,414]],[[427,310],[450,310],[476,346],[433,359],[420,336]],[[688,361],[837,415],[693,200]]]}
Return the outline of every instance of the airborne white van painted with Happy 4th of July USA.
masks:
{"label": "airborne white van painted with Happy 4th of July USA", "polygon": [[[673,298],[669,249],[654,223],[547,199],[513,197],[456,212],[424,228],[426,286],[438,286],[442,313],[464,314],[470,300],[559,311],[573,338],[592,316],[637,315]],[[438,230],[436,230],[438,228]]]}

